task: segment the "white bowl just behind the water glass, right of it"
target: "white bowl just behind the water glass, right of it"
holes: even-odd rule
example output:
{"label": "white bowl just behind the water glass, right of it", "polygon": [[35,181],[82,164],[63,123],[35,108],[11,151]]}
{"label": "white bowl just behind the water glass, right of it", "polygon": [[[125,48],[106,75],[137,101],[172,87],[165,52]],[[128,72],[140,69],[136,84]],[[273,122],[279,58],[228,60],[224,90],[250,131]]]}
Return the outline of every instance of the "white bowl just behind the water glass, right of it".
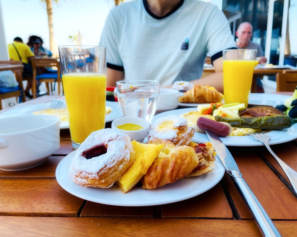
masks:
{"label": "white bowl just behind the water glass, right of it", "polygon": [[157,111],[168,111],[178,107],[178,97],[184,95],[176,89],[160,88]]}

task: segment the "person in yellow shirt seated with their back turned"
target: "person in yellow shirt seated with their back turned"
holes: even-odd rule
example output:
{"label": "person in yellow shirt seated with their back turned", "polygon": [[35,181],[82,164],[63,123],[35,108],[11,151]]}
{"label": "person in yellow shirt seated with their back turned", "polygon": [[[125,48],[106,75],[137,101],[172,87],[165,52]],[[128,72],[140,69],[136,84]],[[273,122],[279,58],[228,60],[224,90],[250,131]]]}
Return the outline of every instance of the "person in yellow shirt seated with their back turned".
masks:
{"label": "person in yellow shirt seated with their back turned", "polygon": [[[34,53],[31,51],[30,47],[23,43],[20,37],[15,37],[12,44],[8,44],[8,53],[10,60],[22,61],[23,63],[29,63],[29,59],[34,57]],[[23,71],[23,77],[29,77],[33,75],[33,71]],[[25,89],[25,94],[29,98],[33,98],[30,93],[32,87],[32,79],[27,80],[27,86]]]}

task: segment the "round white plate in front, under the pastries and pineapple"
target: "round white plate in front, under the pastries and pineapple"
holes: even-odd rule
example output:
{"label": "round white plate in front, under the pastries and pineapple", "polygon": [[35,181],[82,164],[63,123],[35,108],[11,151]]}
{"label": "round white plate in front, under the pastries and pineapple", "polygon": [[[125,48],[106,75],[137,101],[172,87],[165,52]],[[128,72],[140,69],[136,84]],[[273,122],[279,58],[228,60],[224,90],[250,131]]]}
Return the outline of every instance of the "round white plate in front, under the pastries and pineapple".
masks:
{"label": "round white plate in front, under the pastries and pineapple", "polygon": [[185,178],[154,190],[134,187],[123,193],[116,185],[110,188],[90,188],[73,182],[69,176],[69,167],[75,152],[63,158],[57,166],[56,179],[59,185],[79,198],[114,206],[153,206],[186,200],[213,188],[225,173],[224,166],[217,158],[214,171],[200,177]]}

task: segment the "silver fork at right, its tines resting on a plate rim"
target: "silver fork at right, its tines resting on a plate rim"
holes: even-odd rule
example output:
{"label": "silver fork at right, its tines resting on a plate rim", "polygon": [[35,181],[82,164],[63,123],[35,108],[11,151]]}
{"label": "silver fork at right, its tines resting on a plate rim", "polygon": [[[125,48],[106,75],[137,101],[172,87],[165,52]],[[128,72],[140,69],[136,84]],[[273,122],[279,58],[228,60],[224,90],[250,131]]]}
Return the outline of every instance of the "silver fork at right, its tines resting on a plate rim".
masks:
{"label": "silver fork at right, its tines resting on a plate rim", "polygon": [[262,142],[266,148],[269,150],[272,156],[277,160],[279,165],[284,170],[285,174],[287,175],[288,179],[290,180],[293,189],[295,190],[295,193],[297,194],[297,172],[293,170],[290,166],[288,166],[284,161],[282,161],[281,158],[279,158],[273,150],[271,150],[268,141],[271,139],[270,136],[265,132],[256,132],[256,133],[250,133],[249,135],[252,135],[255,137],[257,141]]}

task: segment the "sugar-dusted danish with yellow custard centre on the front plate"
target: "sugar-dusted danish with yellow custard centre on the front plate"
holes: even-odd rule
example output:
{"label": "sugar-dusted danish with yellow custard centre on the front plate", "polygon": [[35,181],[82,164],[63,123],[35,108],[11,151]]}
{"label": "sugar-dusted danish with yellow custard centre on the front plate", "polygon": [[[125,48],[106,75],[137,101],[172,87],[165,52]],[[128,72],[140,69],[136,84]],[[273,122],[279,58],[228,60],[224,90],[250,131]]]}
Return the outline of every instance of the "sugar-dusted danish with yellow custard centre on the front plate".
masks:
{"label": "sugar-dusted danish with yellow custard centre on the front plate", "polygon": [[176,115],[159,118],[152,124],[148,142],[153,138],[168,140],[174,145],[188,145],[194,137],[195,128],[188,126],[187,120]]}

